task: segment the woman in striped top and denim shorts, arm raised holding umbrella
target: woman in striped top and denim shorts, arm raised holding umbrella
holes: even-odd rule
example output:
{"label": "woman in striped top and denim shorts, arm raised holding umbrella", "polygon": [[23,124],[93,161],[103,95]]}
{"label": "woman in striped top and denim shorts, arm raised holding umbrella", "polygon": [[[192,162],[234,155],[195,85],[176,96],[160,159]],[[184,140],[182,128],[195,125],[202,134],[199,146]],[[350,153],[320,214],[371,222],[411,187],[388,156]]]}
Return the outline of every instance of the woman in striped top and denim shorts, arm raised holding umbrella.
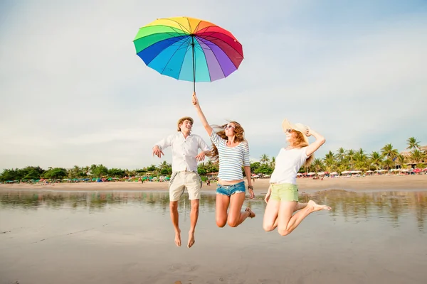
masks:
{"label": "woman in striped top and denim shorts, arm raised holding umbrella", "polygon": [[[211,158],[219,160],[218,187],[216,188],[216,225],[223,227],[228,224],[228,226],[236,227],[242,224],[246,218],[255,217],[255,213],[250,208],[241,211],[246,195],[242,165],[248,178],[250,198],[254,197],[248,142],[243,136],[242,126],[236,121],[220,126],[221,131],[216,133],[201,111],[196,94],[193,94],[193,104],[201,123],[214,144]],[[227,214],[228,205],[230,210]]]}

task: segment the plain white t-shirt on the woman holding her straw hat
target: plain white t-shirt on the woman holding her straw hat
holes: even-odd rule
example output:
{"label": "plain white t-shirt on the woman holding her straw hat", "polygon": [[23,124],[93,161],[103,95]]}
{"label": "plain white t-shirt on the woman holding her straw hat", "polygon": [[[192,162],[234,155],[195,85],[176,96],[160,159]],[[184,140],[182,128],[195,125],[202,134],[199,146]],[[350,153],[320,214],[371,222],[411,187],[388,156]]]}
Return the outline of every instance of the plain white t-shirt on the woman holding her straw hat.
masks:
{"label": "plain white t-shirt on the woman holding her straw hat", "polygon": [[297,173],[307,160],[305,151],[307,147],[286,150],[281,148],[275,159],[275,169],[270,178],[270,183],[297,184]]}

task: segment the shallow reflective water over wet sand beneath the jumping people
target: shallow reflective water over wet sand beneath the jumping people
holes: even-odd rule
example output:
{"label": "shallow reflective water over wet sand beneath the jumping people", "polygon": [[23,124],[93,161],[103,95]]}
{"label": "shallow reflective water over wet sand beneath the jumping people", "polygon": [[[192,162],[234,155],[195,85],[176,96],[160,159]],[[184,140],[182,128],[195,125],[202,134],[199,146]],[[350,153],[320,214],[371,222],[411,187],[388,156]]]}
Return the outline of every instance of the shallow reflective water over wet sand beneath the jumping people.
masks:
{"label": "shallow reflective water over wet sand beneath the jumping people", "polygon": [[300,195],[332,211],[285,237],[263,231],[263,196],[219,229],[205,193],[191,249],[186,197],[178,248],[167,192],[0,191],[0,283],[426,283],[427,191]]}

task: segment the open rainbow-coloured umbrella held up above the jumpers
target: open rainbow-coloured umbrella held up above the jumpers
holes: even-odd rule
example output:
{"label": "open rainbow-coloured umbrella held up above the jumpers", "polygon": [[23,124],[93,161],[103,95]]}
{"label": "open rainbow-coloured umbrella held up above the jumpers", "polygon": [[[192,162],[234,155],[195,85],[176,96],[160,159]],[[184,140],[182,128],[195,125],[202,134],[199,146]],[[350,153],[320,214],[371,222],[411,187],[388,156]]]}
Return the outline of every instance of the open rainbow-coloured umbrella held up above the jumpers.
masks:
{"label": "open rainbow-coloured umbrella held up above the jumpers", "polygon": [[241,43],[223,28],[196,18],[159,18],[139,28],[137,55],[148,67],[177,80],[212,82],[237,70]]}

